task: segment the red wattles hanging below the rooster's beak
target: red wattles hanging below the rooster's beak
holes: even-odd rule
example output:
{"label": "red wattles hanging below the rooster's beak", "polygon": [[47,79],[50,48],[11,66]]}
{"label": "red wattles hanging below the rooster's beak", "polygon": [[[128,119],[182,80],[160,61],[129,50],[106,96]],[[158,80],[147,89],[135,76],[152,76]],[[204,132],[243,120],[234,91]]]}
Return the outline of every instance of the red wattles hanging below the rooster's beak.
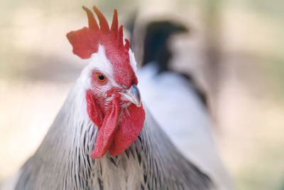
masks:
{"label": "red wattles hanging below the rooster's beak", "polygon": [[145,120],[143,105],[131,104],[125,108],[127,110],[121,110],[121,100],[117,95],[104,114],[91,90],[87,90],[86,100],[89,117],[99,129],[91,158],[101,158],[108,150],[111,156],[116,156],[136,141]]}

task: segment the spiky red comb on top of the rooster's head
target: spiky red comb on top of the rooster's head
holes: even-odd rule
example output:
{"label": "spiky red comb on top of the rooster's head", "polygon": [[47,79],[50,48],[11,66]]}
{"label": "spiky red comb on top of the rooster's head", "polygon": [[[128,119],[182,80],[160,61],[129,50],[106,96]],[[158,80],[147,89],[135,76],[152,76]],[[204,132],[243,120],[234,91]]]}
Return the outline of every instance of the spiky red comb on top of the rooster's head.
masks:
{"label": "spiky red comb on top of the rooster's head", "polygon": [[[78,31],[71,31],[70,33],[67,33],[67,38],[73,46],[73,53],[80,58],[90,58],[92,53],[96,53],[98,51],[99,44],[108,46],[109,43],[111,43],[117,48],[124,46],[123,27],[122,25],[119,27],[116,9],[114,9],[111,29],[109,29],[107,19],[104,17],[102,12],[97,9],[97,6],[93,6],[93,9],[99,19],[99,25],[96,19],[94,19],[92,11],[87,9],[85,6],[82,6],[82,8],[87,13],[89,28],[84,27]],[[129,50],[127,47],[129,46],[124,47],[126,51]]]}

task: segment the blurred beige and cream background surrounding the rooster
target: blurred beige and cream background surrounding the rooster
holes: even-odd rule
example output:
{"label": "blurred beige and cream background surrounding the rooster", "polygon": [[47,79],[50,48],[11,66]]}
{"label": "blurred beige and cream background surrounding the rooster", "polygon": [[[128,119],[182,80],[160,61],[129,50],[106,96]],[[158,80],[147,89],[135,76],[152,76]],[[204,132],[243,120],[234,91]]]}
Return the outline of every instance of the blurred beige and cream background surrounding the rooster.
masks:
{"label": "blurred beige and cream background surrounding the rooster", "polygon": [[[65,37],[87,26],[82,5],[109,21],[118,9],[128,36],[159,19],[190,28],[168,43],[172,67],[207,92],[234,186],[284,189],[282,0],[1,1],[0,186],[38,147],[85,65]],[[133,44],[138,63],[141,44]]]}

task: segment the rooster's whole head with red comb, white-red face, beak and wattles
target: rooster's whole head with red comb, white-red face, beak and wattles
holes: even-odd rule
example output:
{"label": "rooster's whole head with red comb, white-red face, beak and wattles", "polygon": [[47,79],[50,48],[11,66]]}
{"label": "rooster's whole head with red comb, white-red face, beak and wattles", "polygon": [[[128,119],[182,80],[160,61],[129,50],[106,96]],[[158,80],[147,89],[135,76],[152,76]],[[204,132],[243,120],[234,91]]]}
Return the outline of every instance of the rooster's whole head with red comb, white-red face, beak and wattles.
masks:
{"label": "rooster's whole head with red comb, white-red face, beak and wattles", "polygon": [[109,28],[96,6],[93,9],[99,25],[92,11],[82,8],[87,12],[89,27],[71,31],[67,38],[73,53],[89,59],[80,78],[86,88],[87,113],[99,129],[90,157],[103,157],[108,150],[115,156],[136,141],[145,120],[137,88],[136,60],[127,39],[124,44],[116,9]]}

